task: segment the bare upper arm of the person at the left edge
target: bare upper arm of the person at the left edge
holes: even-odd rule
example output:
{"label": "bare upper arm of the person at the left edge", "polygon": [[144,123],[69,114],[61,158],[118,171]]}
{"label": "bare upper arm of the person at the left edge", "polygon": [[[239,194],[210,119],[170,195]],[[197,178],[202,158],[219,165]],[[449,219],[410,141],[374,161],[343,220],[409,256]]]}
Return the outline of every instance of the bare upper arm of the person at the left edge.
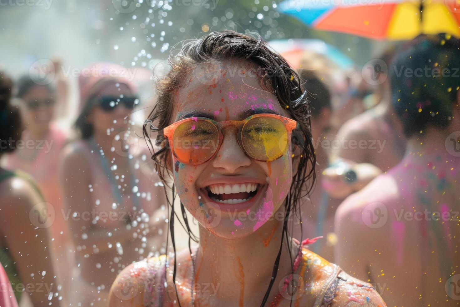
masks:
{"label": "bare upper arm of the person at the left edge", "polygon": [[[57,289],[55,257],[48,234],[54,216],[25,180],[12,178],[5,184],[9,184],[9,188],[0,193],[0,233],[16,262],[25,291],[30,294],[35,307],[49,306],[50,303],[61,306],[58,297],[62,293]],[[17,289],[23,290],[21,288]]]}

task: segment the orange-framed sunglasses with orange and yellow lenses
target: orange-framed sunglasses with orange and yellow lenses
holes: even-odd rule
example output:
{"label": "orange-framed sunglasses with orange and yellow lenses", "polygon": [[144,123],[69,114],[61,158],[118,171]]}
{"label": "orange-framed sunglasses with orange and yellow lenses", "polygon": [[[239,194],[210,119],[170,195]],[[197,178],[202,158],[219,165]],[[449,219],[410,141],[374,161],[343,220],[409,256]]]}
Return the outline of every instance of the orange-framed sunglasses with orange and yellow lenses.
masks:
{"label": "orange-framed sunglasses with orange and yellow lenses", "polygon": [[276,114],[255,114],[242,121],[215,122],[207,117],[190,117],[163,129],[174,156],[185,164],[209,161],[219,151],[224,127],[238,128],[237,139],[244,153],[258,161],[273,161],[287,150],[297,122]]}

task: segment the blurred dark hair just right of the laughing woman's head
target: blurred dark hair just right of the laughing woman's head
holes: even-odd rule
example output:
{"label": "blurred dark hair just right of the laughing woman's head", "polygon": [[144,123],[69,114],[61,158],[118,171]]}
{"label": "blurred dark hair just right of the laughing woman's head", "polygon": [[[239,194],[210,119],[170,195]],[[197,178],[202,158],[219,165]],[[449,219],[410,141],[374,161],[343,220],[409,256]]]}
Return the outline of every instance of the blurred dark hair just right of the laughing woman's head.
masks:
{"label": "blurred dark hair just right of the laughing woman's head", "polygon": [[305,87],[308,89],[308,98],[311,101],[311,115],[318,116],[321,114],[322,109],[331,109],[331,92],[326,84],[310,70],[301,70],[300,77],[304,80]]}

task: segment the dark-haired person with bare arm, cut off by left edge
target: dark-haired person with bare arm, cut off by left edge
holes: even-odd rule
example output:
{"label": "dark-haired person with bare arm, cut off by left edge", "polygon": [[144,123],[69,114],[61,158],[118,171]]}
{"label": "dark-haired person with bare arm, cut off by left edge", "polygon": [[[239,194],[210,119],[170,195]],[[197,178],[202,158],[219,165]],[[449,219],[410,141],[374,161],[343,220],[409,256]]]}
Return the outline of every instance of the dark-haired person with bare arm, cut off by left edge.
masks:
{"label": "dark-haired person with bare arm, cut off by left edge", "polygon": [[[12,86],[0,72],[0,156],[14,151],[21,136],[19,111],[10,104]],[[26,299],[25,293],[32,306],[61,306],[57,259],[48,233],[53,216],[40,190],[28,174],[0,167],[0,195],[0,262],[17,301]]]}

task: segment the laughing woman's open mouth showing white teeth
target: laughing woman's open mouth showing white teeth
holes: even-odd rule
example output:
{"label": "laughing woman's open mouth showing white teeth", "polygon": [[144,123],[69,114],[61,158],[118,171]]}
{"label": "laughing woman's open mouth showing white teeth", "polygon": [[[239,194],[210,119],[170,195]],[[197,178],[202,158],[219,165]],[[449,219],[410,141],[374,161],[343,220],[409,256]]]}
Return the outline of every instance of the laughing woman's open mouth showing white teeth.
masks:
{"label": "laughing woman's open mouth showing white teeth", "polygon": [[207,196],[216,203],[244,203],[253,198],[260,190],[259,183],[214,184],[205,188]]}

